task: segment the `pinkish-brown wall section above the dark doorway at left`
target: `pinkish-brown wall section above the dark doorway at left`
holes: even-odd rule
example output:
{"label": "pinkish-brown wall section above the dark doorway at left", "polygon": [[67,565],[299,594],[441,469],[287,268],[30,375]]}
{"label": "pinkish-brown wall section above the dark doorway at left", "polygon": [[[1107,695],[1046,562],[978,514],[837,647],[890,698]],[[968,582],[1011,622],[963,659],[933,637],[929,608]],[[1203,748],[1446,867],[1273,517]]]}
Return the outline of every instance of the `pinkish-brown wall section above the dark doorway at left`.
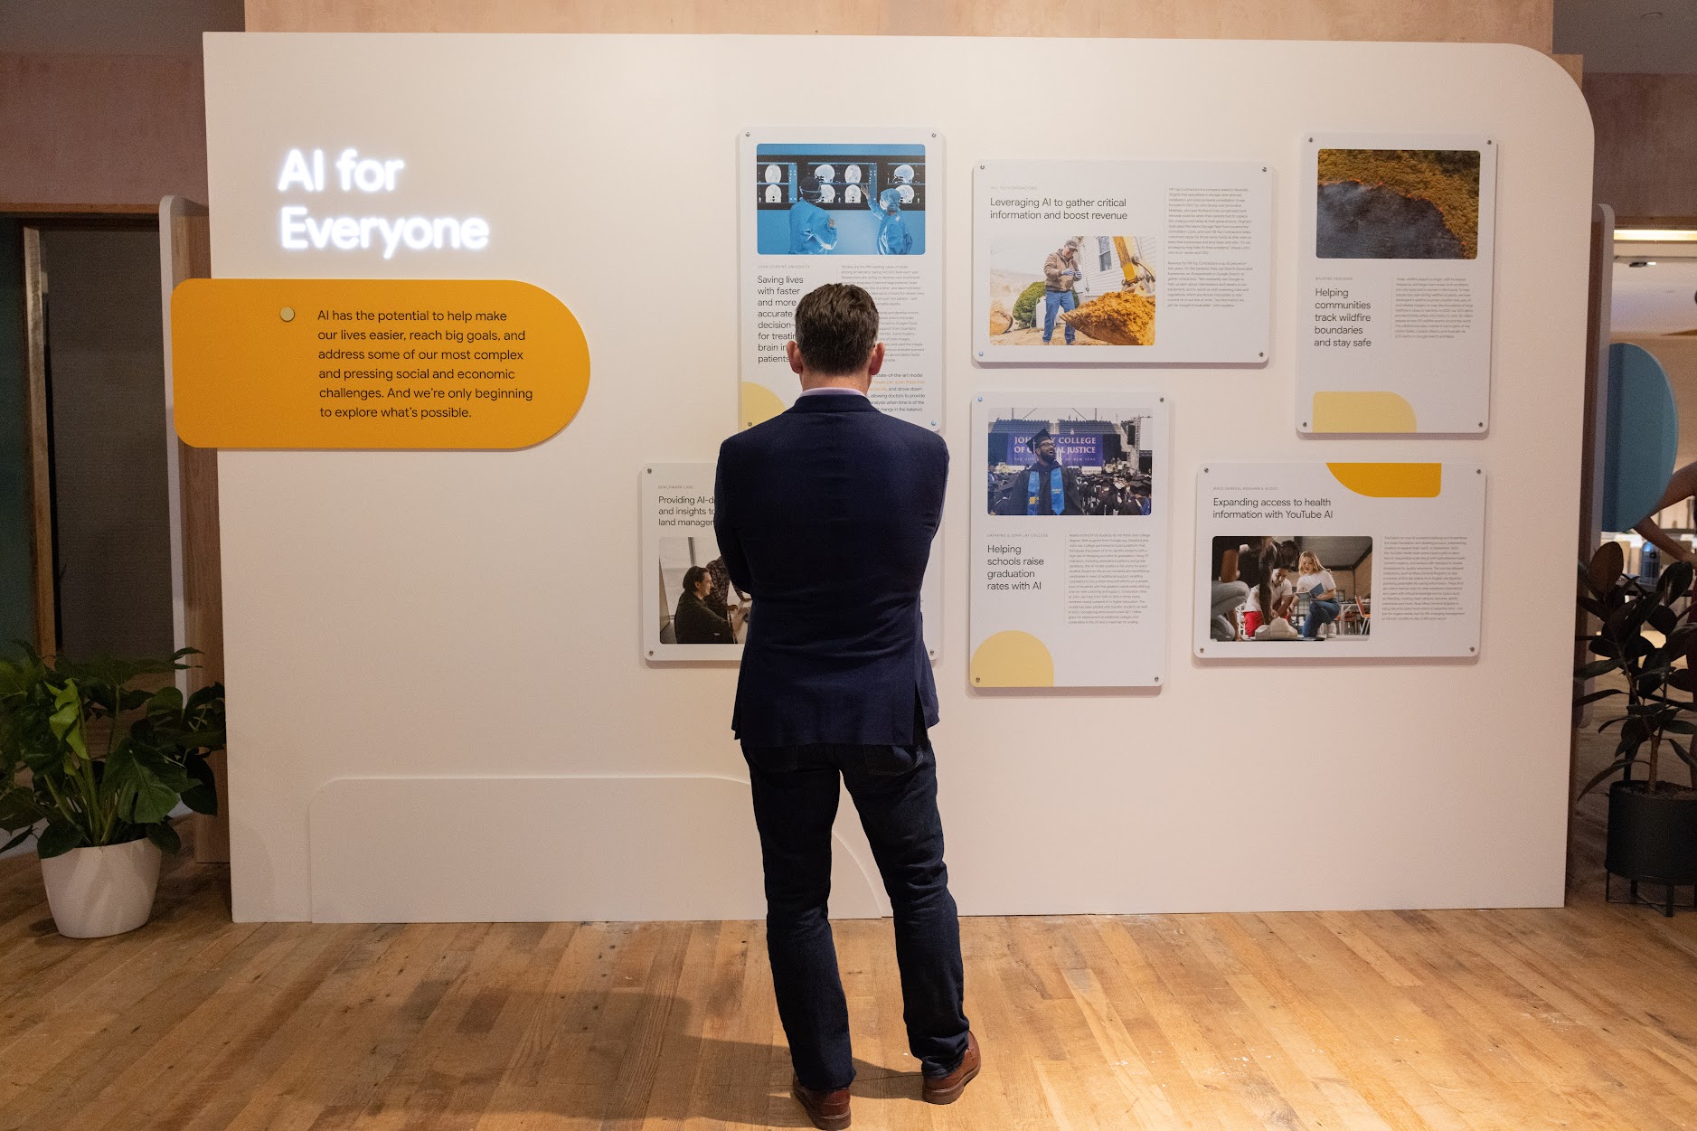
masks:
{"label": "pinkish-brown wall section above the dark doorway at left", "polygon": [[0,211],[153,212],[173,192],[207,194],[199,56],[0,54]]}

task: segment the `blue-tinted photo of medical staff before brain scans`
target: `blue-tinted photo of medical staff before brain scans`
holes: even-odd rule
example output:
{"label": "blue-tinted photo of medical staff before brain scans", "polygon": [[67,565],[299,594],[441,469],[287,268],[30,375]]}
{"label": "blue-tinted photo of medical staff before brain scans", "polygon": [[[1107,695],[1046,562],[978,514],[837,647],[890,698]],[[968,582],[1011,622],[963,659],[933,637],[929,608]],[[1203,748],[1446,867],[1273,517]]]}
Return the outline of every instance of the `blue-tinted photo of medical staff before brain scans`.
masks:
{"label": "blue-tinted photo of medical staff before brain scans", "polygon": [[760,255],[925,255],[925,146],[755,146]]}

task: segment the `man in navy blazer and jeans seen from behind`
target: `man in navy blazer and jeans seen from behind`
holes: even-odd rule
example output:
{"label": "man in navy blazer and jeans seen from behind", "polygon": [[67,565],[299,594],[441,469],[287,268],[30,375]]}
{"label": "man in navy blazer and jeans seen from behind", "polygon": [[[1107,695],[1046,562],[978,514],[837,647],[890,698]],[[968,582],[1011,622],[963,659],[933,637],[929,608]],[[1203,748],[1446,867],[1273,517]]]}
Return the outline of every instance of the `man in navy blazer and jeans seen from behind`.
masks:
{"label": "man in navy blazer and jeans seen from behind", "polygon": [[848,1126],[848,1005],[826,919],[832,822],[847,783],[896,917],[908,1048],[923,1097],[977,1075],[962,1012],[961,926],[927,729],[937,689],[920,582],[942,521],[942,438],[872,408],[877,307],[828,284],[796,307],[794,408],[720,447],[713,520],[731,582],[757,605],[731,727],[765,863],[767,954],[791,1087],[815,1128]]}

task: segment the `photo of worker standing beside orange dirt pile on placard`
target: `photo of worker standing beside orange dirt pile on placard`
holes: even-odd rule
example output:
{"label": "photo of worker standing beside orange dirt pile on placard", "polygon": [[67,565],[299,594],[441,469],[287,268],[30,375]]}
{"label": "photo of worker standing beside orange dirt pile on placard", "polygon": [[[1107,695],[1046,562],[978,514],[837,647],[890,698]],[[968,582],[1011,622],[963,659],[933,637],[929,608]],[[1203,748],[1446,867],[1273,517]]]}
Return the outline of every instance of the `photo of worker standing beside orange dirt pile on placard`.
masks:
{"label": "photo of worker standing beside orange dirt pile on placard", "polygon": [[1152,250],[1151,236],[994,236],[989,245],[989,343],[1154,345]]}

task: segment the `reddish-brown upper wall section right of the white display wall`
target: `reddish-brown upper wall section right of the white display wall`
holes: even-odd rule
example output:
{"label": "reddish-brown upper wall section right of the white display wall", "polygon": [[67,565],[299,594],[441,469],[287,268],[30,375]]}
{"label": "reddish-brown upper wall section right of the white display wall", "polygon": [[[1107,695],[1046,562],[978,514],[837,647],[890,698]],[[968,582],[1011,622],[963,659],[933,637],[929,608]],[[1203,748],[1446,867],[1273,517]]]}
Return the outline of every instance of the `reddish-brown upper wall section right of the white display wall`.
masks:
{"label": "reddish-brown upper wall section right of the white display wall", "polygon": [[1697,217],[1697,75],[1587,75],[1595,199],[1622,222]]}

